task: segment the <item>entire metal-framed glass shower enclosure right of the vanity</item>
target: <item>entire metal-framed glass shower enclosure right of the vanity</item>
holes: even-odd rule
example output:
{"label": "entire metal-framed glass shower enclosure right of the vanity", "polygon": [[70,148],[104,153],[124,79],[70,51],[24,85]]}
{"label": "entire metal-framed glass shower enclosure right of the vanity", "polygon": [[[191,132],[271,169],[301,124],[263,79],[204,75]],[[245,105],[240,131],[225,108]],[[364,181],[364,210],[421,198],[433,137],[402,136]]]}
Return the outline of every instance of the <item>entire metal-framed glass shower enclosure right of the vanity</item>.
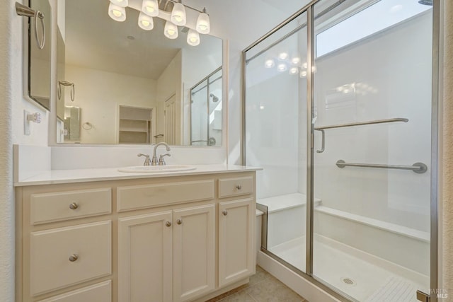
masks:
{"label": "entire metal-framed glass shower enclosure right of the vanity", "polygon": [[438,3],[427,4],[311,1],[243,52],[262,251],[341,299],[437,288]]}

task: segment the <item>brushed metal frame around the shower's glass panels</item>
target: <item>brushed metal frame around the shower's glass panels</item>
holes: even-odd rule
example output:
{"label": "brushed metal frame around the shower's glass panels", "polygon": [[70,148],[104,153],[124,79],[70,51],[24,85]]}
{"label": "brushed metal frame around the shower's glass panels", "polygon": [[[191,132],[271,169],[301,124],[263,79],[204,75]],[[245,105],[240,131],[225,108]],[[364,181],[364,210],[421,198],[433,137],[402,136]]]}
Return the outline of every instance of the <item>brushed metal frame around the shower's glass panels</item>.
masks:
{"label": "brushed metal frame around the shower's glass panels", "polygon": [[[307,70],[311,71],[312,66],[314,66],[314,6],[319,1],[323,0],[312,0],[304,7],[299,9],[296,13],[289,16],[285,21],[277,25],[273,30],[270,30],[268,33],[260,37],[256,42],[253,42],[251,45],[246,47],[241,53],[242,66],[241,66],[241,103],[242,103],[242,133],[241,133],[241,159],[242,165],[246,165],[246,64],[247,57],[246,53],[248,50],[251,50],[253,47],[256,47],[258,44],[266,40],[268,37],[276,33],[278,30],[283,28],[285,25],[294,21],[295,18],[301,16],[303,13],[306,13],[306,27],[307,27],[307,44],[306,44],[306,54],[307,54]],[[338,0],[336,4],[342,4],[346,0]],[[360,0],[350,0],[352,2],[358,2]],[[440,45],[441,45],[441,15],[440,8],[443,7],[445,0],[434,0],[432,6],[432,101],[431,101],[431,167],[430,167],[430,292],[439,289],[439,268],[438,268],[438,244],[439,244],[439,207],[438,207],[438,157],[439,157],[439,139],[438,135],[440,132],[439,125],[439,115],[440,115],[440,95],[441,95],[441,86],[440,82]],[[299,30],[299,29],[297,29]],[[292,32],[291,32],[292,33]],[[288,34],[289,35],[289,34]],[[286,37],[286,36],[285,36]],[[285,37],[281,38],[283,40]],[[280,42],[277,40],[277,42]],[[277,44],[273,42],[269,47]],[[263,50],[261,50],[263,52]],[[256,56],[256,55],[255,55]],[[352,299],[349,296],[346,296],[345,293],[340,293],[331,287],[327,286],[325,283],[319,281],[313,275],[313,246],[314,246],[314,124],[311,122],[313,119],[314,112],[314,74],[313,72],[307,72],[306,75],[306,122],[307,122],[307,132],[309,133],[306,136],[306,263],[305,263],[305,272],[302,272],[300,269],[297,269],[290,263],[282,260],[277,255],[274,255],[272,252],[261,248],[262,252],[265,252],[266,255],[272,257],[277,262],[282,263],[292,271],[297,272],[304,279],[309,280],[312,284],[320,287],[324,291],[327,291],[329,294],[335,296],[341,301],[350,301]],[[430,295],[431,302],[437,302],[437,297],[435,294]]]}

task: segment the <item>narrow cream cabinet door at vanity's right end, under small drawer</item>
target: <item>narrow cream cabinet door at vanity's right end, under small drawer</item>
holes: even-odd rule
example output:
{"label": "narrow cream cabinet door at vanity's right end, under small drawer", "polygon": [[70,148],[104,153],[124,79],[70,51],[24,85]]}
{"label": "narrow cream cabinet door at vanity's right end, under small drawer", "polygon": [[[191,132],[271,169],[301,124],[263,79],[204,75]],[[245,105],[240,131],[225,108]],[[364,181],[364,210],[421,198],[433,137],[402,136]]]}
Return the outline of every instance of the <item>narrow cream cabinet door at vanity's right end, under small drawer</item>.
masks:
{"label": "narrow cream cabinet door at vanity's right end, under small drawer", "polygon": [[219,286],[255,272],[254,205],[253,199],[219,204]]}

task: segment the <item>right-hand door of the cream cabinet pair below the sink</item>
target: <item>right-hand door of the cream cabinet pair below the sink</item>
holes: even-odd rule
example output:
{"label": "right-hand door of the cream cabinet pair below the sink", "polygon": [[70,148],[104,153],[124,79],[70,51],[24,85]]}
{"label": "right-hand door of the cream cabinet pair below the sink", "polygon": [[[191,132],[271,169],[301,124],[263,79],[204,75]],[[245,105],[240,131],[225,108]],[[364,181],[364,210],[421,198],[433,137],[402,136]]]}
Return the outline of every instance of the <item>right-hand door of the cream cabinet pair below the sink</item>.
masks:
{"label": "right-hand door of the cream cabinet pair below the sink", "polygon": [[173,211],[173,301],[214,290],[215,205]]}

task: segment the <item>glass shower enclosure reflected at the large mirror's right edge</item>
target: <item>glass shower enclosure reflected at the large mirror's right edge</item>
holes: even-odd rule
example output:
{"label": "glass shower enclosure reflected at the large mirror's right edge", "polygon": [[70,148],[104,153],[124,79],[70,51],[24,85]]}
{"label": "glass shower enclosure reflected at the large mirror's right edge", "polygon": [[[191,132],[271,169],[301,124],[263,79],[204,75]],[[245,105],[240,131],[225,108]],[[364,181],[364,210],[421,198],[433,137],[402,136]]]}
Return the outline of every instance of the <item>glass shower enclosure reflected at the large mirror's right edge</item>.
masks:
{"label": "glass shower enclosure reflected at the large mirror's right edge", "polygon": [[222,67],[190,88],[190,145],[222,146]]}

